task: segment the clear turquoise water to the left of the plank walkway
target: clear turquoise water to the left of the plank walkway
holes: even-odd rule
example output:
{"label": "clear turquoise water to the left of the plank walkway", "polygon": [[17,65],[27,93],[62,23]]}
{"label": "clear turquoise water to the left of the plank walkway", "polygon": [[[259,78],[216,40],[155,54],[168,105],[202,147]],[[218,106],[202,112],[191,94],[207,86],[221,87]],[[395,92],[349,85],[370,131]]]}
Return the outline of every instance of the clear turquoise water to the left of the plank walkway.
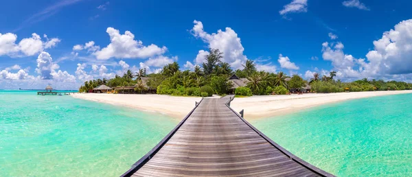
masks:
{"label": "clear turquoise water to the left of the plank walkway", "polygon": [[177,123],[68,95],[0,91],[0,176],[119,176]]}

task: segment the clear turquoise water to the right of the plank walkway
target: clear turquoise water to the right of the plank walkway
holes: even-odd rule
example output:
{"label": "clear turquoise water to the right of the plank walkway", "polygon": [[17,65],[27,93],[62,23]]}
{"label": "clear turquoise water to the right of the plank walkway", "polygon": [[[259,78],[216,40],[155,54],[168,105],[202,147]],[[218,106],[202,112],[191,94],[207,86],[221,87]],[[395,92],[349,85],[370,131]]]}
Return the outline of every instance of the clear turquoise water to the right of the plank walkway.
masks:
{"label": "clear turquoise water to the right of the plank walkway", "polygon": [[336,176],[412,176],[412,94],[354,99],[251,123]]}

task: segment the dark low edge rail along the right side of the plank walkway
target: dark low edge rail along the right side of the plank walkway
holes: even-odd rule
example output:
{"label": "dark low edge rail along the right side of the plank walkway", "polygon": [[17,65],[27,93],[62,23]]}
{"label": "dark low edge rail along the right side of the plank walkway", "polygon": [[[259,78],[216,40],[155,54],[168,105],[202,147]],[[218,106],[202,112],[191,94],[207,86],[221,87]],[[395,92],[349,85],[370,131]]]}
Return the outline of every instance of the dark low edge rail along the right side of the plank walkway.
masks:
{"label": "dark low edge rail along the right side of the plank walkway", "polygon": [[[278,145],[277,143],[275,143],[275,141],[273,141],[272,139],[266,137],[265,134],[263,134],[262,132],[260,132],[257,128],[255,128],[254,126],[251,125],[251,123],[249,123],[248,121],[246,121],[243,118],[243,114],[240,115],[239,113],[237,113],[235,110],[233,110],[230,107],[230,102],[233,101],[234,97],[230,97],[229,101],[226,103],[226,106],[233,111],[233,113],[235,113],[236,115],[238,115],[238,117],[240,119],[242,119],[242,121],[244,123],[247,124],[247,126],[249,126],[253,131],[257,132],[260,137],[262,137],[263,139],[265,139],[266,141],[268,141],[269,143],[271,143],[271,145],[273,145],[273,147],[275,147],[277,150],[279,150],[280,152],[282,152],[283,154],[285,154],[286,156],[288,156],[291,160],[299,163],[300,165],[310,169],[310,171],[314,172],[315,174],[319,174],[319,176],[328,176],[328,177],[332,177],[334,176],[333,174],[330,174],[328,172],[323,171],[322,169],[319,169],[318,167],[315,167],[314,165],[311,165],[310,163],[307,163],[306,161],[302,160],[301,158],[293,155],[292,153],[288,152],[288,150],[284,149],[284,147]],[[242,110],[243,113],[244,110]]]}

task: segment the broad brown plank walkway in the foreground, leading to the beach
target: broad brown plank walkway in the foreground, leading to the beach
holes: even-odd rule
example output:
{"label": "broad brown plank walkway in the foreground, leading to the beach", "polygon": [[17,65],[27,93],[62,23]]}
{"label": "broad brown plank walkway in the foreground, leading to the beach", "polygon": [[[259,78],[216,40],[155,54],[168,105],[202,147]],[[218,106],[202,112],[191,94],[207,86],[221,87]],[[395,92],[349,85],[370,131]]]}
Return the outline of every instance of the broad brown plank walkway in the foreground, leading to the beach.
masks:
{"label": "broad brown plank walkway in the foreground, leading to the beach", "polygon": [[230,108],[204,98],[122,176],[333,176],[294,156]]}

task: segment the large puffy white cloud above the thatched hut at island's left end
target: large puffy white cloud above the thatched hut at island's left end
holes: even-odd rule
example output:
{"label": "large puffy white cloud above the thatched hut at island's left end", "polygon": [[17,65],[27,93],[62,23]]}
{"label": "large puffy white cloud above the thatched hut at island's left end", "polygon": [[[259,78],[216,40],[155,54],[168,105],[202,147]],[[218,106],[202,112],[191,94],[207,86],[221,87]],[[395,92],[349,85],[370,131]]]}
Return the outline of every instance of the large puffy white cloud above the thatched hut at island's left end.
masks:
{"label": "large puffy white cloud above the thatched hut at island's left end", "polygon": [[[108,27],[106,32],[110,36],[111,43],[93,53],[100,60],[109,58],[148,58],[164,54],[168,50],[164,46],[158,47],[154,44],[144,46],[141,40],[135,40],[135,35],[129,31],[120,34],[119,30]],[[92,46],[94,46],[94,42]]]}

